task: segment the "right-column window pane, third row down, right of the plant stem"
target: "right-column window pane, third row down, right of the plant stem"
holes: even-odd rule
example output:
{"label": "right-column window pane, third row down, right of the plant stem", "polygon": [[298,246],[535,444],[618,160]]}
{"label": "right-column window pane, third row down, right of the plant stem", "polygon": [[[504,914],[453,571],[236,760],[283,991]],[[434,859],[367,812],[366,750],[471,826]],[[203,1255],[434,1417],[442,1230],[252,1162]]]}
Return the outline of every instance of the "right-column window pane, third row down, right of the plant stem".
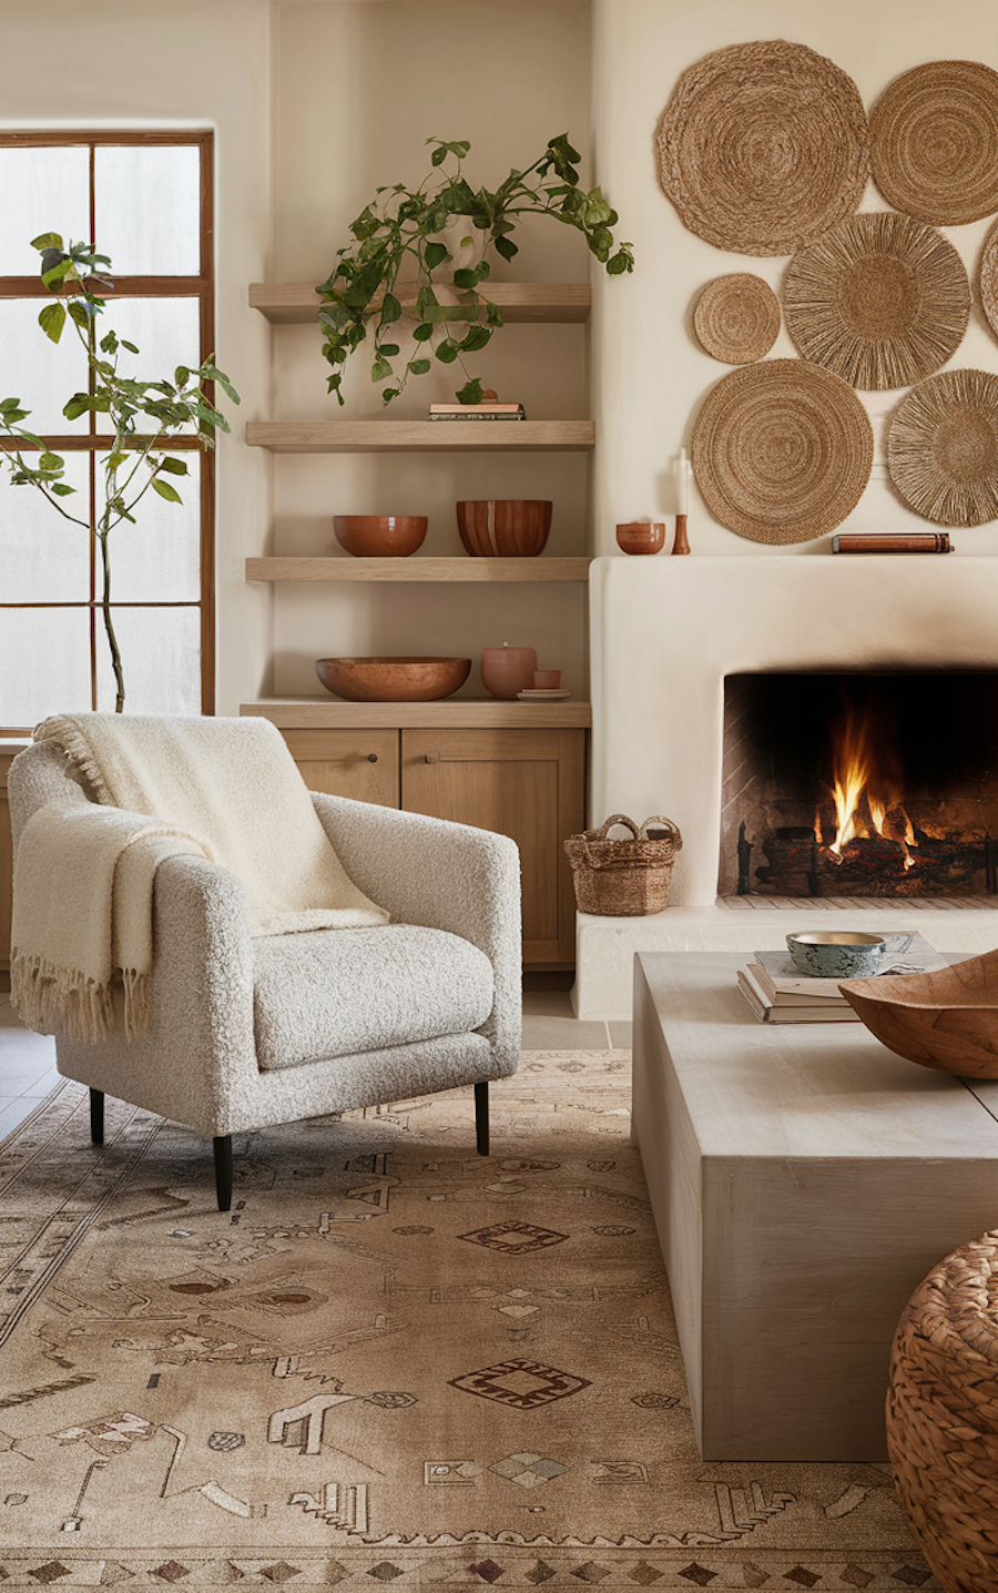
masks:
{"label": "right-column window pane, third row down, right of the plant stem", "polygon": [[[175,456],[177,457],[177,456]],[[135,524],[123,521],[110,535],[111,594],[116,602],[199,602],[201,599],[201,456],[178,456],[186,476],[166,476],[181,503],[169,503],[146,489],[134,510]],[[100,460],[102,456],[99,454]],[[135,489],[148,470],[140,467]],[[103,491],[103,472],[97,472]],[[118,486],[124,484],[124,472]],[[132,494],[126,492],[126,503]]]}

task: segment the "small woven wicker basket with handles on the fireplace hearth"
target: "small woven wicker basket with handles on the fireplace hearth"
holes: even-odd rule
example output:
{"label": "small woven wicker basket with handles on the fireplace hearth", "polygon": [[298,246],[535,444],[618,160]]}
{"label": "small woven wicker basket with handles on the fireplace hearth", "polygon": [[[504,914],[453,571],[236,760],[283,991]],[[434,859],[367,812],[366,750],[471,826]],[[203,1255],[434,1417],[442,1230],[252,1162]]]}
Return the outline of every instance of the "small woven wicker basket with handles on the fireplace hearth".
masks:
{"label": "small woven wicker basket with handles on the fireplace hearth", "polygon": [[[622,841],[608,840],[606,832],[614,824],[622,824],[630,836]],[[645,819],[638,828],[622,812],[611,814],[598,830],[570,835],[565,851],[579,913],[606,918],[661,913],[669,906],[672,865],[681,846],[683,836],[672,819]]]}

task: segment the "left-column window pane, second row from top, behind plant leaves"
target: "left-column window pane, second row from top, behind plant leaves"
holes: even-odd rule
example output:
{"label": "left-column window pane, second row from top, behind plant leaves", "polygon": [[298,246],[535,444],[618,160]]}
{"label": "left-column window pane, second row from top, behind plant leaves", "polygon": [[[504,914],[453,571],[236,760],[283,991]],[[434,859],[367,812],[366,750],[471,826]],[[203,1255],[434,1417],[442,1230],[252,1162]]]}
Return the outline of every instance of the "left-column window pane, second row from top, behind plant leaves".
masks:
{"label": "left-column window pane, second row from top, behind plant leaves", "polygon": [[86,432],[86,416],[67,421],[64,406],[86,392],[86,354],[68,325],[60,342],[38,325],[41,299],[0,299],[0,398],[19,398],[30,414],[22,425],[56,435]]}

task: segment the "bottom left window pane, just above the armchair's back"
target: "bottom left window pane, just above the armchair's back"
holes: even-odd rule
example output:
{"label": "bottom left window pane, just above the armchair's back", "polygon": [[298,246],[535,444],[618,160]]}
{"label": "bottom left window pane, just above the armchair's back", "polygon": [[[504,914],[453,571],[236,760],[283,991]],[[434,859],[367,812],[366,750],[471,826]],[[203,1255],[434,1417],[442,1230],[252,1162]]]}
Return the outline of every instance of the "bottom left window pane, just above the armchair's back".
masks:
{"label": "bottom left window pane, just above the armchair's back", "polygon": [[0,610],[0,723],[37,725],[91,707],[86,609]]}

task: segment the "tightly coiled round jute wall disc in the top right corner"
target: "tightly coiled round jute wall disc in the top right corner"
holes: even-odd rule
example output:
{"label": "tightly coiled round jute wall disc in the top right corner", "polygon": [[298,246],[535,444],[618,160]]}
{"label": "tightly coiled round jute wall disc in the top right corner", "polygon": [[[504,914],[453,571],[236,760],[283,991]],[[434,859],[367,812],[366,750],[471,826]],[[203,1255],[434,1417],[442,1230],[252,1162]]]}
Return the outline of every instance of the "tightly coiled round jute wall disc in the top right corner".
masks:
{"label": "tightly coiled round jute wall disc in the top right corner", "polygon": [[928,61],[883,92],[871,116],[874,182],[898,210],[961,226],[998,210],[998,72]]}

